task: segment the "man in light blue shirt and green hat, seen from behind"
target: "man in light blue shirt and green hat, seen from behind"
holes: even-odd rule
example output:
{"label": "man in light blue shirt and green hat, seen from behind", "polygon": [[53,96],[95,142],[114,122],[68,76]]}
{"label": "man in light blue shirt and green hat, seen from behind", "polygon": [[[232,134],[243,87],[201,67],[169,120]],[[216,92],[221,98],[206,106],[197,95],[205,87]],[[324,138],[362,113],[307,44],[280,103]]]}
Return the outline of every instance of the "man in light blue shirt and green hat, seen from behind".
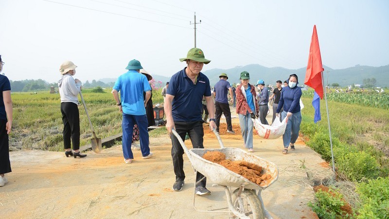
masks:
{"label": "man in light blue shirt and green hat, seen from behind", "polygon": [[[123,155],[124,162],[130,164],[134,159],[131,151],[131,139],[135,124],[139,128],[142,158],[147,159],[153,156],[149,147],[148,122],[145,110],[146,103],[151,96],[151,88],[146,76],[139,73],[143,67],[138,60],[131,60],[125,69],[128,72],[119,76],[113,86],[112,93],[120,112],[123,113]],[[143,91],[146,92],[145,99],[143,99]]]}

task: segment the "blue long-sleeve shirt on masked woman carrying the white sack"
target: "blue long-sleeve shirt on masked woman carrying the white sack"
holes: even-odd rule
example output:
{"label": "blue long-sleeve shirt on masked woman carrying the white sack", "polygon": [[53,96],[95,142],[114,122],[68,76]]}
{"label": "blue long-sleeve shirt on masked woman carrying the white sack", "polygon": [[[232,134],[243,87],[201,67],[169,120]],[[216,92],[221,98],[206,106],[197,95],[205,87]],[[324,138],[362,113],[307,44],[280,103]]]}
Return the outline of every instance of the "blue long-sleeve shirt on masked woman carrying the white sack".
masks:
{"label": "blue long-sleeve shirt on masked woman carrying the white sack", "polygon": [[290,88],[289,86],[284,87],[281,92],[280,102],[278,102],[277,113],[280,113],[283,108],[286,112],[299,112],[300,109],[300,98],[301,98],[301,88],[294,87]]}

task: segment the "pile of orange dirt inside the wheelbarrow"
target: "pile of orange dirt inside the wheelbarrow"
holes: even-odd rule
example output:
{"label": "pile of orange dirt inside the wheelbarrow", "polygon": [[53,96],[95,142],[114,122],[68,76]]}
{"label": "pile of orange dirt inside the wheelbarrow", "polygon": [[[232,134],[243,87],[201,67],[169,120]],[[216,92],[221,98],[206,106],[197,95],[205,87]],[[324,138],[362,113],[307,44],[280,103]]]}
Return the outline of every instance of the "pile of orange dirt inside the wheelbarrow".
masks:
{"label": "pile of orange dirt inside the wheelbarrow", "polygon": [[220,164],[258,185],[264,180],[271,179],[271,175],[261,174],[262,166],[246,161],[226,160],[226,155],[220,151],[207,151],[207,153],[203,155],[203,158],[213,163]]}

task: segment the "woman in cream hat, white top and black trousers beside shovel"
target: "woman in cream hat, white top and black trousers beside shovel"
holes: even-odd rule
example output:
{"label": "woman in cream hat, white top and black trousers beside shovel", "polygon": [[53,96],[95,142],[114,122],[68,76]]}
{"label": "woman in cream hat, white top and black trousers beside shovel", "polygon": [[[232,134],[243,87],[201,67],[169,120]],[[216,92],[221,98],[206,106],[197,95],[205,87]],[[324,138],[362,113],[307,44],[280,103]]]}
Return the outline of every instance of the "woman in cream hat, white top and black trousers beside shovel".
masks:
{"label": "woman in cream hat, white top and black trousers beside shovel", "polygon": [[[81,81],[72,76],[77,66],[71,61],[65,61],[59,67],[62,78],[58,81],[59,95],[61,96],[61,113],[64,123],[64,147],[66,157],[86,157],[80,154],[80,113],[78,111],[78,93],[81,91]],[[71,142],[73,152],[71,152]]]}

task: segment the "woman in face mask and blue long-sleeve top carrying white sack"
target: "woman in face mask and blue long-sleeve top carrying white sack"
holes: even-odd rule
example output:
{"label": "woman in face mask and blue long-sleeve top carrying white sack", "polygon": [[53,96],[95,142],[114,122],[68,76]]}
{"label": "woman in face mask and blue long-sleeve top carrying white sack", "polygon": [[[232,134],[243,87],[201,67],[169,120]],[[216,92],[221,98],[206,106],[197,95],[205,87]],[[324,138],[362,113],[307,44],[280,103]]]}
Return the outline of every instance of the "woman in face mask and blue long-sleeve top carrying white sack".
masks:
{"label": "woman in face mask and blue long-sleeve top carrying white sack", "polygon": [[295,150],[295,142],[299,137],[300,124],[301,124],[301,109],[300,98],[301,88],[297,87],[299,79],[296,74],[291,74],[287,80],[288,86],[283,88],[281,92],[280,102],[277,107],[277,116],[281,109],[281,119],[287,117],[287,123],[285,133],[283,134],[283,154],[288,153],[288,147]]}

